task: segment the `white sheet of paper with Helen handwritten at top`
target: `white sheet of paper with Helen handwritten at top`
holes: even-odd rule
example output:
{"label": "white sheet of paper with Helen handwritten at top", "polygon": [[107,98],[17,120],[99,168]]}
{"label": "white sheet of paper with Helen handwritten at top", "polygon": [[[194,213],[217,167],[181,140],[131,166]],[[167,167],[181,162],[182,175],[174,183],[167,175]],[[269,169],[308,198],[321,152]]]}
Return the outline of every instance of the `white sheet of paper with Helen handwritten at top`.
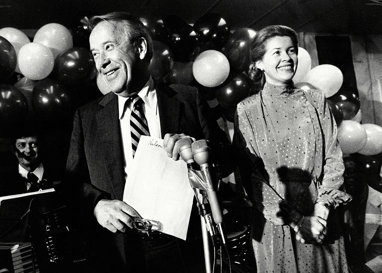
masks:
{"label": "white sheet of paper with Helen handwritten at top", "polygon": [[163,139],[141,136],[123,201],[142,218],[162,223],[162,232],[185,240],[193,197],[186,163],[167,156]]}

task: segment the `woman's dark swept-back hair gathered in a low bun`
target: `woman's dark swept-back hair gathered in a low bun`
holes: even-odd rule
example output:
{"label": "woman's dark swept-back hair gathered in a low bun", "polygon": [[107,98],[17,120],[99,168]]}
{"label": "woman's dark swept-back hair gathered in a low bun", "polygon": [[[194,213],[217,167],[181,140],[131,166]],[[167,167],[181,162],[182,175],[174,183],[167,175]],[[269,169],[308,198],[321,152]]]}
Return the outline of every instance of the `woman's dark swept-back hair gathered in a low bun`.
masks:
{"label": "woman's dark swept-back hair gathered in a low bun", "polygon": [[249,78],[255,82],[260,81],[264,75],[264,73],[256,67],[255,63],[258,60],[262,60],[264,57],[266,41],[275,36],[289,36],[295,47],[296,54],[298,54],[298,38],[296,31],[290,27],[282,25],[264,27],[256,33],[251,42],[251,48],[249,49],[252,64],[249,66],[248,74]]}

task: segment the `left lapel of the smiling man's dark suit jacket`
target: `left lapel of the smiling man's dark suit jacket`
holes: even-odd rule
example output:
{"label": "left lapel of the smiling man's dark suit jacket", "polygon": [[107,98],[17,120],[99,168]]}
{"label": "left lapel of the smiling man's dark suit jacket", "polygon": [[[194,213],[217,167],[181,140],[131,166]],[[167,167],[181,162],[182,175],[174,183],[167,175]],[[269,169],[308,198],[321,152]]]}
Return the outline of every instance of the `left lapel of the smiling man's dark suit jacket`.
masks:
{"label": "left lapel of the smiling man's dark suit jacket", "polygon": [[[122,200],[125,177],[118,120],[118,97],[110,92],[99,104],[104,108],[96,114],[97,132],[94,139],[100,139],[98,143],[101,149],[100,157],[103,158],[110,185],[115,197]],[[105,181],[105,183],[108,183],[108,181]]]}

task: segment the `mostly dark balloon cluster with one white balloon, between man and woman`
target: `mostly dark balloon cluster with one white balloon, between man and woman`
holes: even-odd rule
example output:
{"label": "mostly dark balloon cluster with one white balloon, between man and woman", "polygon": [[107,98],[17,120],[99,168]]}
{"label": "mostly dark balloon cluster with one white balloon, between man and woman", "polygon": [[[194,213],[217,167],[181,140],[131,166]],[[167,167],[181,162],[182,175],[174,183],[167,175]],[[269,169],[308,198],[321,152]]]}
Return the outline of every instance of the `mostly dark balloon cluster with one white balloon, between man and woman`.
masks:
{"label": "mostly dark balloon cluster with one white balloon, between man and woman", "polygon": [[[152,77],[199,87],[201,95],[214,104],[215,117],[233,121],[237,103],[250,93],[243,71],[251,63],[249,47],[256,32],[246,27],[231,32],[218,13],[202,15],[192,25],[175,15],[139,19],[154,40]],[[104,88],[101,81],[99,86]]]}

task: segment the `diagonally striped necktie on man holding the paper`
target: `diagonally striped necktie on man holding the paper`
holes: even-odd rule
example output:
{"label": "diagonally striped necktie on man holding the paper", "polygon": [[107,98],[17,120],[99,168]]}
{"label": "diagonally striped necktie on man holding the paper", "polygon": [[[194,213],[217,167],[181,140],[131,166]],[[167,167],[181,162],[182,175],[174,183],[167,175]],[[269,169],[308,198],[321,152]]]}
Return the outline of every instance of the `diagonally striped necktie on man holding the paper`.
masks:
{"label": "diagonally striped necktie on man holding the paper", "polygon": [[131,131],[131,146],[133,148],[133,157],[138,147],[138,142],[141,136],[150,136],[149,126],[143,113],[143,100],[138,95],[129,98],[133,102],[133,111],[130,117],[130,131]]}

